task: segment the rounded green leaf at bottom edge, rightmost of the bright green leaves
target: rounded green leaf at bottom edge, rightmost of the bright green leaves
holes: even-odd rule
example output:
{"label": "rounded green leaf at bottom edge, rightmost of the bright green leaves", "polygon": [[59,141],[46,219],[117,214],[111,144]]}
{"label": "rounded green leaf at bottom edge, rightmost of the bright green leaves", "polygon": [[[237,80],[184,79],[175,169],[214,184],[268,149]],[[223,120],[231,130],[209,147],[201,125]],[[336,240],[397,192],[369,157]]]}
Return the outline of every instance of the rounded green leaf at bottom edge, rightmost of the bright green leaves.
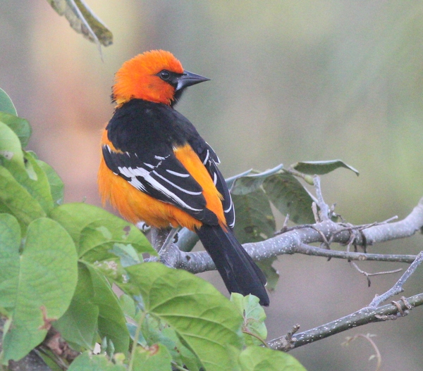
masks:
{"label": "rounded green leaf at bottom edge, rightmost of the bright green leaves", "polygon": [[240,354],[242,371],[307,371],[293,356],[260,346],[249,346]]}

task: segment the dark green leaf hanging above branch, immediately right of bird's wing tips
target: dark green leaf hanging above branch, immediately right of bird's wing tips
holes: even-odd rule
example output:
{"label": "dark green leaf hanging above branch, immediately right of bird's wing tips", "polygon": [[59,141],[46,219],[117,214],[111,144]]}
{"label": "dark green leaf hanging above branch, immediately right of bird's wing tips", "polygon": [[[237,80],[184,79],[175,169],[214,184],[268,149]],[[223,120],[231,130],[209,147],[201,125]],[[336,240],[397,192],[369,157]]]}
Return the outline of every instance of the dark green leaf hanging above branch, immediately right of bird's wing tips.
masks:
{"label": "dark green leaf hanging above branch, immediately right of bird's wing tips", "polygon": [[241,244],[263,241],[272,237],[275,219],[269,200],[259,188],[245,195],[232,195],[236,210],[235,236]]}

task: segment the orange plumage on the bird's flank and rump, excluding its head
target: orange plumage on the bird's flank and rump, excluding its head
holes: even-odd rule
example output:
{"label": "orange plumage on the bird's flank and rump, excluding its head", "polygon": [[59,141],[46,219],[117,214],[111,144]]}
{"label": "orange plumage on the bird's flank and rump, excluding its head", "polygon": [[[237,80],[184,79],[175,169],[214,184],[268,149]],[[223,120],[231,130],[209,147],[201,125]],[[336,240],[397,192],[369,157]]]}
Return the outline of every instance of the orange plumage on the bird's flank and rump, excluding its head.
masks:
{"label": "orange plumage on the bird's flank and rump, excluding its head", "polygon": [[[113,144],[107,138],[106,130],[104,130],[102,144],[108,144],[112,150],[118,151],[114,149]],[[192,151],[189,145],[176,149],[175,155],[192,177],[202,186],[202,193],[207,201],[207,208],[217,215],[221,225],[226,225],[221,195],[214,186],[212,178],[200,158]],[[107,168],[103,158],[99,167],[98,183],[103,203],[109,201],[121,213],[123,218],[130,222],[144,221],[148,225],[160,228],[168,227],[169,225],[178,227],[180,225],[190,230],[194,230],[194,227],[199,228],[202,225],[200,220],[196,220],[180,208],[148,196],[129,184],[123,177],[115,175],[114,172]]]}

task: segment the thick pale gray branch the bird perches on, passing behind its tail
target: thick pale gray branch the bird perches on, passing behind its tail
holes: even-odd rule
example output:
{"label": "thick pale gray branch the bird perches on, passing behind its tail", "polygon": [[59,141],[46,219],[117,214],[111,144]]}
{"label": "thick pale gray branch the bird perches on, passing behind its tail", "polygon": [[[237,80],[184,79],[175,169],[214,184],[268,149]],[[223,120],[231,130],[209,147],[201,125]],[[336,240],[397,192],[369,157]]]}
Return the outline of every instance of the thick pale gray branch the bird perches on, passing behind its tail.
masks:
{"label": "thick pale gray branch the bird perches on, passing behind its tail", "polygon": [[[343,223],[324,220],[311,226],[289,230],[266,241],[244,244],[245,250],[254,260],[264,260],[273,256],[302,253],[326,258],[340,258],[348,260],[376,260],[386,262],[412,263],[416,256],[376,254],[353,251],[338,251],[312,246],[313,243],[326,241],[341,245],[349,244],[353,240],[355,246],[367,247],[380,242],[410,237],[423,227],[423,199],[403,220],[386,222],[379,225],[353,227]],[[353,237],[353,239],[352,239]],[[184,237],[185,238],[185,237]],[[205,251],[186,253],[172,244],[167,251],[172,256],[174,268],[188,270],[192,273],[214,270],[212,259]]]}

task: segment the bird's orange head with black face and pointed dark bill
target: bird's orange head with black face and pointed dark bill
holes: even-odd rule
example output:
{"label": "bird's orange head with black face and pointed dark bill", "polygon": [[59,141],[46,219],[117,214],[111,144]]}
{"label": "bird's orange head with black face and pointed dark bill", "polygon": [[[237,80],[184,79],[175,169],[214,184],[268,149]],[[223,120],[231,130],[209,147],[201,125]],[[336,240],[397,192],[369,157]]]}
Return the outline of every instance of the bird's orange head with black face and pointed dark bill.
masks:
{"label": "bird's orange head with black face and pointed dark bill", "polygon": [[146,51],[123,63],[118,70],[112,99],[118,105],[133,98],[173,105],[185,87],[207,80],[185,71],[168,51]]}

